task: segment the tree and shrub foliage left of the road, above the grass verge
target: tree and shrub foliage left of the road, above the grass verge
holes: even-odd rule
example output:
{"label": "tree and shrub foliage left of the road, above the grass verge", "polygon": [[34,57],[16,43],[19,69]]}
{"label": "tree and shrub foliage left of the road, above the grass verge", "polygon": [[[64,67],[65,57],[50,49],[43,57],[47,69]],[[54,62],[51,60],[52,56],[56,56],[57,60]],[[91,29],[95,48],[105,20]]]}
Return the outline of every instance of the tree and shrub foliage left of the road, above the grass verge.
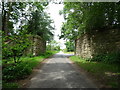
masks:
{"label": "tree and shrub foliage left of the road, above the grass verge", "polygon": [[[2,2],[3,59],[17,60],[31,44],[30,35],[45,42],[53,38],[53,26],[45,9],[48,2]],[[16,60],[17,59],[17,60]]]}

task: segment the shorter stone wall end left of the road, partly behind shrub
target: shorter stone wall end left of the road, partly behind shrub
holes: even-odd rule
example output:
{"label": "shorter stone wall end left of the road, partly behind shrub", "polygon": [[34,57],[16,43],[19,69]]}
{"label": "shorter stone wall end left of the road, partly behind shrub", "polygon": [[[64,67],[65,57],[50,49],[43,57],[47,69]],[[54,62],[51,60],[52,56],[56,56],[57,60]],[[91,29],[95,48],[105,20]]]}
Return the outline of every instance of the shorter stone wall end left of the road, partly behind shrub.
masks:
{"label": "shorter stone wall end left of the road, partly behind shrub", "polygon": [[26,50],[26,54],[38,56],[46,51],[46,42],[40,36],[30,36],[31,45]]}

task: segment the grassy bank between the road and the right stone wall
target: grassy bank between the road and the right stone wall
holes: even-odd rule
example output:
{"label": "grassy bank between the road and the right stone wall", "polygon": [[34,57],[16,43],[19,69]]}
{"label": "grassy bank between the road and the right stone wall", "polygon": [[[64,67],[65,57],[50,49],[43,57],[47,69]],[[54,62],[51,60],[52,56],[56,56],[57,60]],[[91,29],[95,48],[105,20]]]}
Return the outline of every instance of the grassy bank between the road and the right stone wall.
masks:
{"label": "grassy bank between the road and the right stone wall", "polygon": [[70,59],[87,71],[103,87],[118,88],[120,66],[116,64],[106,64],[103,62],[90,62],[77,56],[71,56]]}

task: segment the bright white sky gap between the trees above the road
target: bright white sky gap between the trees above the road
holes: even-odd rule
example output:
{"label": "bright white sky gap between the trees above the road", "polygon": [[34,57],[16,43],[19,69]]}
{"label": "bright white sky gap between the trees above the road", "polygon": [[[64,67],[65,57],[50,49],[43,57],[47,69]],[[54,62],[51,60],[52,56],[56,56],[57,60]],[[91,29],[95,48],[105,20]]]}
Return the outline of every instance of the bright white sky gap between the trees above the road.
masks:
{"label": "bright white sky gap between the trees above the road", "polygon": [[54,40],[60,43],[60,48],[64,49],[65,48],[65,40],[60,39],[58,35],[61,34],[61,26],[62,22],[64,22],[64,17],[63,15],[59,15],[59,10],[62,10],[64,7],[63,4],[55,4],[55,3],[49,3],[47,12],[50,13],[51,19],[54,21],[55,25],[55,33],[54,33]]}

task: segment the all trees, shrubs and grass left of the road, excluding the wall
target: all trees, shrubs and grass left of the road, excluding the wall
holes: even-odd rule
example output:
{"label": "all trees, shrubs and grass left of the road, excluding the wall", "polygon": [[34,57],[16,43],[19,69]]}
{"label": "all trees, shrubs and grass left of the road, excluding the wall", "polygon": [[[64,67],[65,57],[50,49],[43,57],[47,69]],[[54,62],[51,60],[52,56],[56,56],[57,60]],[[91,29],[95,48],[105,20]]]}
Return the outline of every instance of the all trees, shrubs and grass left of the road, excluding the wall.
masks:
{"label": "all trees, shrubs and grass left of the road, excluding the wall", "polygon": [[34,38],[30,40],[31,36],[38,35],[44,43],[53,39],[54,27],[51,25],[53,21],[45,11],[48,4],[48,2],[8,1],[1,3],[4,88],[18,87],[15,81],[26,78],[36,65],[55,53],[47,51],[37,57],[34,57],[33,51],[30,55],[26,54],[29,47],[34,46],[35,40]]}

